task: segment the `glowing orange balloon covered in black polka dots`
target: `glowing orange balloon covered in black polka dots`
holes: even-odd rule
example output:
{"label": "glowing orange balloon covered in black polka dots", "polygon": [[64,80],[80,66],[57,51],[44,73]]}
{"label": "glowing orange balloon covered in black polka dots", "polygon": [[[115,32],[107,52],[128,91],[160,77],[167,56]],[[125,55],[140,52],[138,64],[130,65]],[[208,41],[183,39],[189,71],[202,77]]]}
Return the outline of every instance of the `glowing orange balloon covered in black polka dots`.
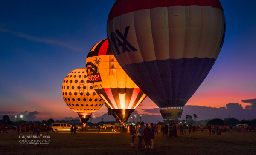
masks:
{"label": "glowing orange balloon covered in black polka dots", "polygon": [[78,113],[84,124],[104,104],[102,98],[93,90],[85,68],[75,69],[66,76],[62,83],[62,96],[67,106]]}

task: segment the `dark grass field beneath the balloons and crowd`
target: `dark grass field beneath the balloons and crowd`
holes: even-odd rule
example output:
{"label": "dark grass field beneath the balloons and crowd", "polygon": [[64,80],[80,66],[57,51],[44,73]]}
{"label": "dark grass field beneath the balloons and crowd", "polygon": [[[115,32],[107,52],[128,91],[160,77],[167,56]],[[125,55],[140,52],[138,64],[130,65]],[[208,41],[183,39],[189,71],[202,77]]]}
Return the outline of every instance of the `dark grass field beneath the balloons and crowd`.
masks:
{"label": "dark grass field beneath the balloons and crowd", "polygon": [[[178,131],[179,132],[179,131]],[[33,135],[32,132],[24,133]],[[41,132],[46,135],[46,132]],[[209,135],[197,131],[186,135],[164,138],[162,133],[155,136],[155,149],[131,148],[129,133],[89,132],[52,132],[49,144],[20,144],[17,132],[0,133],[0,154],[44,154],[44,155],[256,155],[255,132],[226,132],[222,135]],[[36,140],[33,138],[32,140]],[[134,144],[137,146],[138,138]]]}

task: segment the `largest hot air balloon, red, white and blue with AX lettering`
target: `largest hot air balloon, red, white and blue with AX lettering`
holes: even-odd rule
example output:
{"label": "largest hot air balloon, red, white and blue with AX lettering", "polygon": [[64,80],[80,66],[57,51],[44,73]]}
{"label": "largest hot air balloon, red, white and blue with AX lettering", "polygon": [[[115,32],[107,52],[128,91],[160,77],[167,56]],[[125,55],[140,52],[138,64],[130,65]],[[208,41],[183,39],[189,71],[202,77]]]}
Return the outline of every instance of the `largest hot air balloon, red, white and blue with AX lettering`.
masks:
{"label": "largest hot air balloon, red, white and blue with AX lettering", "polygon": [[181,117],[224,35],[218,0],[116,0],[107,21],[116,60],[164,119]]}

